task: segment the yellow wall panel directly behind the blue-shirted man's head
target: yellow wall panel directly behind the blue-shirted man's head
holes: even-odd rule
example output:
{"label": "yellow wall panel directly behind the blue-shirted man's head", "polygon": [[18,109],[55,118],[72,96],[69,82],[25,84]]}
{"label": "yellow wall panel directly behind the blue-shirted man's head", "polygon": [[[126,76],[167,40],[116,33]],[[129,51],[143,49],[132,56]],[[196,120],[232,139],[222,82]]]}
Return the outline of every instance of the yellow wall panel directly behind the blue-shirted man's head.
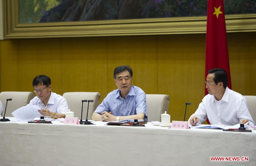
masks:
{"label": "yellow wall panel directly behind the blue-shirted man's head", "polygon": [[157,93],[157,48],[155,36],[108,39],[108,90],[117,89],[113,71],[120,65],[133,69],[133,85],[147,94]]}

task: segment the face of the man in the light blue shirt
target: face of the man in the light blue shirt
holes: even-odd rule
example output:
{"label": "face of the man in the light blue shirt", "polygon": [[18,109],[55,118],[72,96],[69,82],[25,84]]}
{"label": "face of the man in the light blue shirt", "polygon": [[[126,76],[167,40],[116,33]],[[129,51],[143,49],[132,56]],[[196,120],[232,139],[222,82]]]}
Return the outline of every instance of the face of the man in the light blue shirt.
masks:
{"label": "face of the man in the light blue shirt", "polygon": [[122,94],[128,94],[133,84],[133,78],[131,78],[130,73],[126,70],[124,72],[118,73],[114,79],[115,85],[120,90]]}

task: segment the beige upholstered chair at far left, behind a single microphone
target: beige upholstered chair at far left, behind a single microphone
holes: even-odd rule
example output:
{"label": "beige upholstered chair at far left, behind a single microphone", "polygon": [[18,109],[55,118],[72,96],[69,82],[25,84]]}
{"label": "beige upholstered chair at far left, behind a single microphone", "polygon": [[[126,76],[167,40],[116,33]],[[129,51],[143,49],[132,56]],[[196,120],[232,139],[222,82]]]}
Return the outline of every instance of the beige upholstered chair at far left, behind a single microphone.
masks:
{"label": "beige upholstered chair at far left, behind a single microphone", "polygon": [[1,92],[0,100],[3,104],[2,116],[5,113],[6,99],[12,98],[12,101],[8,101],[5,116],[13,117],[12,112],[16,109],[27,105],[35,95],[32,92]]}

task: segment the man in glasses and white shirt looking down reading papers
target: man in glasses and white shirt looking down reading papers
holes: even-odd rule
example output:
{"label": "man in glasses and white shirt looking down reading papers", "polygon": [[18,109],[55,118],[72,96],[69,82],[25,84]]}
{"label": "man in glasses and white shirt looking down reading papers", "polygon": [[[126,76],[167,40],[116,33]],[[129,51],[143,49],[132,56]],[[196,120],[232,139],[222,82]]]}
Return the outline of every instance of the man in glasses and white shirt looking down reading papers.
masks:
{"label": "man in glasses and white shirt looking down reading papers", "polygon": [[51,91],[51,79],[45,75],[36,76],[32,83],[36,97],[28,105],[38,105],[38,112],[45,118],[65,118],[69,111],[67,100]]}

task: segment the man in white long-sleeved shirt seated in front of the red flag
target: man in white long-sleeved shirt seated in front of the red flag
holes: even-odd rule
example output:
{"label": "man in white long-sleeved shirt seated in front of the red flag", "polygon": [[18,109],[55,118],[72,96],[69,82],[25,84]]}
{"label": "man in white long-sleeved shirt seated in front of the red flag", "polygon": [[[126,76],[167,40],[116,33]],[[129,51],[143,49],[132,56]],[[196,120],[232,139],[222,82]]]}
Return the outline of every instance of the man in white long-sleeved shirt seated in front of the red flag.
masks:
{"label": "man in white long-sleeved shirt seated in front of the red flag", "polygon": [[207,94],[198,109],[189,118],[189,124],[201,124],[207,118],[210,124],[233,126],[236,124],[254,125],[245,98],[227,87],[228,76],[224,69],[209,70],[206,78]]}

